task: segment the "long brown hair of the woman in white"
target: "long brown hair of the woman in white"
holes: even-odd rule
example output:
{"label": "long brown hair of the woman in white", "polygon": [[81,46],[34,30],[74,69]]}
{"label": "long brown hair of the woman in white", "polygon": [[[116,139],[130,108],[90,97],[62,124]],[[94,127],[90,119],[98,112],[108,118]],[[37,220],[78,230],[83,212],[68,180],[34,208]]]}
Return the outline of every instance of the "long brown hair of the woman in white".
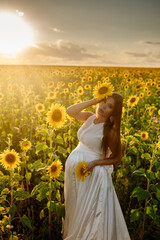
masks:
{"label": "long brown hair of the woman in white", "polygon": [[114,98],[114,109],[111,116],[113,116],[113,121],[110,120],[110,117],[106,120],[103,126],[103,138],[101,143],[101,148],[103,152],[107,153],[107,148],[109,147],[109,141],[110,141],[110,131],[113,128],[113,125],[115,126],[116,131],[116,141],[114,143],[115,152],[112,152],[112,157],[114,158],[117,156],[118,152],[121,151],[121,139],[120,139],[120,127],[121,127],[121,116],[122,116],[122,105],[123,105],[123,98],[120,94],[113,92],[112,97]]}

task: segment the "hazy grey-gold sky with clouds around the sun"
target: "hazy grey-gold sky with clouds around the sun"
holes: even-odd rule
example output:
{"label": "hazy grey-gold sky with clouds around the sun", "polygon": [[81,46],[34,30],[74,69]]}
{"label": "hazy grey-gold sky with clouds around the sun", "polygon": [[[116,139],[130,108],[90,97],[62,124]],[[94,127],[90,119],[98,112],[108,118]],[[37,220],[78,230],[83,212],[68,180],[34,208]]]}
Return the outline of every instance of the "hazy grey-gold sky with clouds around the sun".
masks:
{"label": "hazy grey-gold sky with clouds around the sun", "polygon": [[0,11],[22,12],[34,33],[0,64],[160,67],[159,0],[0,0]]}

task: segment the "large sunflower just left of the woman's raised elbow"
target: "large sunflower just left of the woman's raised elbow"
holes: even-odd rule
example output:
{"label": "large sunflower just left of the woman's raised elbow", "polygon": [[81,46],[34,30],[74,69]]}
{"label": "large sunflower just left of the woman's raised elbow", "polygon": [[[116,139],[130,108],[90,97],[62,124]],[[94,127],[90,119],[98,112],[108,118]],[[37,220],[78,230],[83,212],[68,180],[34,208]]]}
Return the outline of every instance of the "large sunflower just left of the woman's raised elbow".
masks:
{"label": "large sunflower just left of the woman's raised elbow", "polygon": [[47,113],[47,122],[53,127],[60,128],[66,121],[66,109],[59,103],[51,105],[50,111]]}

